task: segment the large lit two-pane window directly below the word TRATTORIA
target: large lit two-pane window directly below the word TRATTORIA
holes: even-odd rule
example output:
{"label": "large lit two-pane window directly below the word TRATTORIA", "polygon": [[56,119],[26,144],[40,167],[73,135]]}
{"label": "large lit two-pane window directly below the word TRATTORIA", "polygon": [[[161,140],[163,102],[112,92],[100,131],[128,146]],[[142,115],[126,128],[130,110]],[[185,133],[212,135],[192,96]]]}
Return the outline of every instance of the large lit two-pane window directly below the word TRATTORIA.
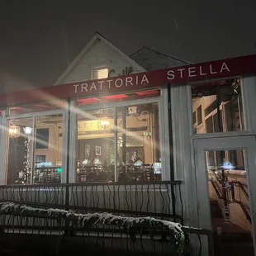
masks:
{"label": "large lit two-pane window directly below the word TRATTORIA", "polygon": [[77,181],[160,180],[159,138],[156,102],[79,111]]}

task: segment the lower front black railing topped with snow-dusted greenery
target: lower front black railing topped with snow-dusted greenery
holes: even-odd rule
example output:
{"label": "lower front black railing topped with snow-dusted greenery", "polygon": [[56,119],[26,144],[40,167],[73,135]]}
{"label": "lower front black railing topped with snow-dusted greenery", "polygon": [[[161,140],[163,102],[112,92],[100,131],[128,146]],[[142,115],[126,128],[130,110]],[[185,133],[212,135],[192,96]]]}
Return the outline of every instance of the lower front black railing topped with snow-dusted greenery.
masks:
{"label": "lower front black railing topped with snow-dusted greenery", "polygon": [[[10,235],[14,235],[11,236],[11,241],[16,237],[17,243],[12,243],[12,248],[21,241],[26,252],[27,248],[43,243],[41,235],[52,235],[48,243],[51,242],[61,255],[64,252],[82,252],[87,255],[192,255],[189,234],[195,234],[200,241],[197,255],[201,255],[202,235],[207,236],[209,255],[213,255],[211,231],[183,227],[152,217],[115,216],[109,213],[82,215],[70,211],[0,203],[0,229],[2,240],[9,238],[7,241],[10,243]],[[4,236],[5,234],[9,235]],[[26,239],[21,234],[25,234]],[[59,240],[62,242],[59,243]],[[43,250],[50,248],[49,244],[45,245]]]}

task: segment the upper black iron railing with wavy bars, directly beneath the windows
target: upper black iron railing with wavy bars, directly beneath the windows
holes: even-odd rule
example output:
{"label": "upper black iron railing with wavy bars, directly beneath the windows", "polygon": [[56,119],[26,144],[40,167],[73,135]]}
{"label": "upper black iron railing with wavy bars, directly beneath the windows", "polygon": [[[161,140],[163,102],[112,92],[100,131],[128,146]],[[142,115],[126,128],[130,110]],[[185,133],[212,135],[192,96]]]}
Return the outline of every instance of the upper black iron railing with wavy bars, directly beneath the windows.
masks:
{"label": "upper black iron railing with wavy bars, directly beneath the windows", "polygon": [[0,186],[0,201],[80,213],[154,216],[183,223],[181,182],[70,183]]}

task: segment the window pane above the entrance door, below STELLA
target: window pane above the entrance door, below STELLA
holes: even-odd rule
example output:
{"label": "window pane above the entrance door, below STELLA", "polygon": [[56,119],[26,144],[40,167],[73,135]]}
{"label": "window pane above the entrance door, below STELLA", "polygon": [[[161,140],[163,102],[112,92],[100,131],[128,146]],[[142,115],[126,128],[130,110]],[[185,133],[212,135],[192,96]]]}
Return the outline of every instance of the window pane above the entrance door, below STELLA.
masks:
{"label": "window pane above the entrance door, below STELLA", "polygon": [[194,133],[244,130],[239,79],[192,87]]}

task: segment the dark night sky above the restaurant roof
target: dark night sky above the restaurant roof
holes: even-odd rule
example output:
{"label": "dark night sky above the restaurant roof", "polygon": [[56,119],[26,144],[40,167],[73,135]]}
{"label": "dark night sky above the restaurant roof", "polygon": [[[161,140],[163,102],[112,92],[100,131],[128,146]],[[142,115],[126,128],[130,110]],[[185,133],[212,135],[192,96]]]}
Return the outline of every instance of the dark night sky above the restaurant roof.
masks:
{"label": "dark night sky above the restaurant roof", "polygon": [[[256,0],[0,2],[0,75],[54,83],[93,33],[199,62],[256,54]],[[90,3],[89,3],[90,2]]]}

